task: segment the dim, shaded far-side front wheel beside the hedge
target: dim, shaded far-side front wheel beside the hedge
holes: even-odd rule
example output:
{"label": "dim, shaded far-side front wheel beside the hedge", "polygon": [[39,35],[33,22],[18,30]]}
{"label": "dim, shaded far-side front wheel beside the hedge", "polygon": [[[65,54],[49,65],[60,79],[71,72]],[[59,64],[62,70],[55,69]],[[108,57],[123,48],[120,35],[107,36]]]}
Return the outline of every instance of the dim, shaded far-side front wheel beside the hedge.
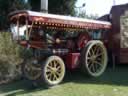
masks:
{"label": "dim, shaded far-side front wheel beside the hedge", "polygon": [[23,65],[23,75],[29,80],[37,80],[41,77],[42,69],[41,64],[38,64],[36,60],[28,60]]}

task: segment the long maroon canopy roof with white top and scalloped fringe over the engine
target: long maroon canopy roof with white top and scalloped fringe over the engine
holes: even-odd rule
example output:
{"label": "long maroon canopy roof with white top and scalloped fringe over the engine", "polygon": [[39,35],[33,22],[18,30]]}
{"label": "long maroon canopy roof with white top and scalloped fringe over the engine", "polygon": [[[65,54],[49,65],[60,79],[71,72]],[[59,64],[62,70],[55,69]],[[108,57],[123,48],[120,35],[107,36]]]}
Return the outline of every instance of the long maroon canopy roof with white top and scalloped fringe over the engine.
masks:
{"label": "long maroon canopy roof with white top and scalloped fringe over the engine", "polygon": [[41,13],[35,11],[21,10],[10,13],[10,20],[19,17],[27,17],[28,21],[34,21],[44,25],[55,25],[58,27],[72,27],[84,29],[110,29],[111,23],[100,20],[91,20],[78,17],[55,15],[49,13]]}

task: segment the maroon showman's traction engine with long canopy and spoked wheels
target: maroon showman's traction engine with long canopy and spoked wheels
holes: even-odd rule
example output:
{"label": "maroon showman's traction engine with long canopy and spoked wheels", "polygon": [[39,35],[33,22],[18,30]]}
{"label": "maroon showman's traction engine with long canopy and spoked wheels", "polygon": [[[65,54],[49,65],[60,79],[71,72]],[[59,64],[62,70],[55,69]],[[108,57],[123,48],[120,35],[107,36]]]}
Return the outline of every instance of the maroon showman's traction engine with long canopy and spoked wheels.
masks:
{"label": "maroon showman's traction engine with long canopy and spoked wheels", "polygon": [[13,40],[33,50],[33,58],[23,64],[27,79],[53,86],[63,80],[66,69],[80,68],[91,77],[105,71],[109,22],[34,11],[9,17]]}

